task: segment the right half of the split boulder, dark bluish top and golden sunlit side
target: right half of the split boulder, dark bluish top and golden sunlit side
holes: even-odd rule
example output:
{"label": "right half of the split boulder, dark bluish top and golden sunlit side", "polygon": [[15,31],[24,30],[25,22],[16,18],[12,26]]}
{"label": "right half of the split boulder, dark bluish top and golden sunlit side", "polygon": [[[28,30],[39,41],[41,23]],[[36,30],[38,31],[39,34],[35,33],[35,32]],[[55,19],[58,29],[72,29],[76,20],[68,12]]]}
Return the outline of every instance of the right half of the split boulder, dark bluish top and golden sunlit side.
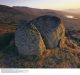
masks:
{"label": "right half of the split boulder, dark bluish top and golden sunlit side", "polygon": [[55,16],[40,16],[30,22],[35,25],[44,40],[46,48],[63,46],[65,28],[60,18]]}

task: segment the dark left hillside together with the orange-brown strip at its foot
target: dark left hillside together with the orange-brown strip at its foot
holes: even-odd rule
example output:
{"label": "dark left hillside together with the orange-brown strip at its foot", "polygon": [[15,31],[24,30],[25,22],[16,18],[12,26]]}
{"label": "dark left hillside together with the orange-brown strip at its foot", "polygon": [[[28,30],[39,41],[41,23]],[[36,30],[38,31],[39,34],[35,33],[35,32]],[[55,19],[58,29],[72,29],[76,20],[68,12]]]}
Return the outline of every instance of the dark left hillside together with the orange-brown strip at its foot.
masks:
{"label": "dark left hillside together with the orange-brown strip at its foot", "polygon": [[0,5],[0,34],[14,32],[21,20],[27,20],[22,12],[5,5]]}

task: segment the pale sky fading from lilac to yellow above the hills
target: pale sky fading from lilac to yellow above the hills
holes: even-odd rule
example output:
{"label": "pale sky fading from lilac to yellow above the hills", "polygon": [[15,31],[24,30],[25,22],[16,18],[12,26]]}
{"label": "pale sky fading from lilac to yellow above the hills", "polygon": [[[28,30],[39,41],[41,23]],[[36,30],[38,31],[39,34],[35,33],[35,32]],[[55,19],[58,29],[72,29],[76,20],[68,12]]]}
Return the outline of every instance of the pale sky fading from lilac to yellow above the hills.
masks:
{"label": "pale sky fading from lilac to yellow above the hills", "polygon": [[0,0],[0,4],[57,10],[80,8],[80,0]]}

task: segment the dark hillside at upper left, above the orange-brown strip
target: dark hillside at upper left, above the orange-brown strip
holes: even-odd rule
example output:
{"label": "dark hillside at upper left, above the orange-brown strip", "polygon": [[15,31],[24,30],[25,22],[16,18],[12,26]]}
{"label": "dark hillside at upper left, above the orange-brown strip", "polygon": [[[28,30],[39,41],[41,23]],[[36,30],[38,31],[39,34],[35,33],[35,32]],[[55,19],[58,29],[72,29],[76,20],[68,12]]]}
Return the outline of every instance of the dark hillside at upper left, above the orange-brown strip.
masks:
{"label": "dark hillside at upper left, above the orange-brown strip", "polygon": [[20,11],[5,5],[0,5],[0,24],[15,24],[26,18]]}

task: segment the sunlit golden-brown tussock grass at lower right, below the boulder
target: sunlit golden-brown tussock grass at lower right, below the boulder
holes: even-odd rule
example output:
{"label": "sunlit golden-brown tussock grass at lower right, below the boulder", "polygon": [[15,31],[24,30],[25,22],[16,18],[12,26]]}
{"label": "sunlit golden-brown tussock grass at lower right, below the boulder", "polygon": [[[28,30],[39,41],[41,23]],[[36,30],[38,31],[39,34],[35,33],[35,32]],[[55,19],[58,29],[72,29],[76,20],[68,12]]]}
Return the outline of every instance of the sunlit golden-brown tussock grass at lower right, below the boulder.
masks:
{"label": "sunlit golden-brown tussock grass at lower right, below the boulder", "polygon": [[[71,41],[71,40],[70,40]],[[47,49],[41,53],[41,67],[76,68],[80,64],[80,48],[66,39],[65,48]]]}

